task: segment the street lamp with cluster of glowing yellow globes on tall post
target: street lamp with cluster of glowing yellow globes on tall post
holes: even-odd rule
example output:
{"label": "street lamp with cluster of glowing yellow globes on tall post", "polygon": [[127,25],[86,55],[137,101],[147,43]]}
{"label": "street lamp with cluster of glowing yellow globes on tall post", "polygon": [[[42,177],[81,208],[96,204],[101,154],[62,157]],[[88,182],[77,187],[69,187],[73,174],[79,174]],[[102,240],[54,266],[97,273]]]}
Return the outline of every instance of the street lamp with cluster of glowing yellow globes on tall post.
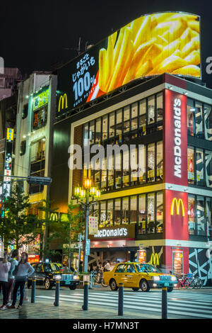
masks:
{"label": "street lamp with cluster of glowing yellow globes on tall post", "polygon": [[[86,208],[86,230],[85,230],[85,249],[84,249],[84,269],[83,271],[88,271],[88,256],[90,254],[90,239],[88,239],[88,215],[90,205],[94,205],[96,201],[101,196],[101,192],[95,186],[92,186],[91,179],[85,179],[83,188],[78,186],[74,188],[74,196],[77,202],[81,203]],[[89,202],[89,198],[93,198],[93,201]],[[81,201],[79,201],[79,199]],[[86,203],[82,200],[86,199]]]}

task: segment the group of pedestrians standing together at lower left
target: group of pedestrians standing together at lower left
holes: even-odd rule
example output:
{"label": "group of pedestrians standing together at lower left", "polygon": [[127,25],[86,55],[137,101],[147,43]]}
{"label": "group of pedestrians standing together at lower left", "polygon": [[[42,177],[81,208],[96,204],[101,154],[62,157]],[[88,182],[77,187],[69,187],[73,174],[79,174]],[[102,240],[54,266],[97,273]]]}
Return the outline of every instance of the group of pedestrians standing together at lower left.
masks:
{"label": "group of pedestrians standing together at lower left", "polygon": [[0,289],[3,293],[1,310],[16,308],[18,290],[20,291],[20,300],[17,309],[22,307],[25,283],[34,271],[28,262],[26,252],[19,256],[18,250],[15,249],[9,257],[6,252],[4,253],[4,258],[0,261]]}

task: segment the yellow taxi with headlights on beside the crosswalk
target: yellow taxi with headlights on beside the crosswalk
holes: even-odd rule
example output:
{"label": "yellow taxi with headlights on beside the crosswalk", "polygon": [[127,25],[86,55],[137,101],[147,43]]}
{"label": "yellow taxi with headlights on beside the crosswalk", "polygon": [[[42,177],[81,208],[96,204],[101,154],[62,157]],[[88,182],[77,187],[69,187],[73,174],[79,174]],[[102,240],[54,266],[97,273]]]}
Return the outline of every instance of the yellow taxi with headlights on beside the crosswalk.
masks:
{"label": "yellow taxi with headlights on beside the crosswalk", "polygon": [[167,291],[172,291],[177,286],[177,278],[174,275],[162,273],[151,264],[139,264],[139,262],[122,262],[114,266],[112,271],[103,273],[105,284],[111,290],[117,290],[119,283],[124,287],[138,291],[149,291],[150,288],[162,288],[167,286]]}

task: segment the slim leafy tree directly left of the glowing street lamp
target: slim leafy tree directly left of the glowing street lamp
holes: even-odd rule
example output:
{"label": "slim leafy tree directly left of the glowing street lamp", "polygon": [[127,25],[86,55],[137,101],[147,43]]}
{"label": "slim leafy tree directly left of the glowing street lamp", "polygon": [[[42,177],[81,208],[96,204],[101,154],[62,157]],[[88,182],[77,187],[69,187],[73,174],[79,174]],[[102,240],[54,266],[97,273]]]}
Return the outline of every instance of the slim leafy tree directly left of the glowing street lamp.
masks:
{"label": "slim leafy tree directly left of the glowing street lamp", "polygon": [[65,244],[63,247],[63,254],[67,256],[69,262],[69,269],[71,266],[71,254],[74,251],[71,248],[71,242],[78,242],[78,235],[83,234],[85,223],[82,220],[83,211],[79,213],[74,213],[73,201],[68,205],[67,218],[61,219],[58,222],[52,221],[51,230],[52,232],[49,235],[48,242],[54,242],[54,240],[59,240],[61,244]]}

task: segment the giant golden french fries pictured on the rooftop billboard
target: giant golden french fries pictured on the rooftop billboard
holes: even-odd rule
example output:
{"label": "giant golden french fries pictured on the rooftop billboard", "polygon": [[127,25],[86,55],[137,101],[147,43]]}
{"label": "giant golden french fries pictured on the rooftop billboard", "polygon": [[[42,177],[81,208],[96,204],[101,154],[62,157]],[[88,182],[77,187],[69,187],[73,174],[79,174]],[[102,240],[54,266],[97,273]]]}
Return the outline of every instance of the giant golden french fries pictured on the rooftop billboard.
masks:
{"label": "giant golden french fries pictured on the rooftop billboard", "polygon": [[144,76],[200,77],[199,18],[187,13],[141,16],[109,36],[99,52],[99,87],[104,93]]}

